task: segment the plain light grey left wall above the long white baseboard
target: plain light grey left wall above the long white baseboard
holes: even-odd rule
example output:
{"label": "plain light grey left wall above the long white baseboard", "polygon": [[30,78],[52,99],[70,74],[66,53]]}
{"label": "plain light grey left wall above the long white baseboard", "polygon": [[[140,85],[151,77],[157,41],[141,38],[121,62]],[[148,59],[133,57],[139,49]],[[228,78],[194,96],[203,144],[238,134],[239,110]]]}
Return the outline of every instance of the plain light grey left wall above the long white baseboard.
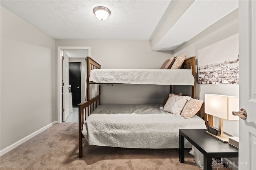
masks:
{"label": "plain light grey left wall above the long white baseboard", "polygon": [[1,146],[57,121],[55,40],[1,6]]}

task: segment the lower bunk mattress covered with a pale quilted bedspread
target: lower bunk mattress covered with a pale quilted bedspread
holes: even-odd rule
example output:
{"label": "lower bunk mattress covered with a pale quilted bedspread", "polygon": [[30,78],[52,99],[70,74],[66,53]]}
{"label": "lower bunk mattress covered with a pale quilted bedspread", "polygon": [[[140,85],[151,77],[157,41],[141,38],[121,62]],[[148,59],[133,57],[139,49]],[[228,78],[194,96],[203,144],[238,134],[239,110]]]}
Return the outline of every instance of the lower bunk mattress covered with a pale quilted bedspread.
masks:
{"label": "lower bunk mattress covered with a pale quilted bedspread", "polygon": [[[179,148],[179,128],[206,128],[198,116],[184,119],[160,105],[100,105],[82,134],[90,145],[123,148]],[[190,144],[185,140],[185,147]]]}

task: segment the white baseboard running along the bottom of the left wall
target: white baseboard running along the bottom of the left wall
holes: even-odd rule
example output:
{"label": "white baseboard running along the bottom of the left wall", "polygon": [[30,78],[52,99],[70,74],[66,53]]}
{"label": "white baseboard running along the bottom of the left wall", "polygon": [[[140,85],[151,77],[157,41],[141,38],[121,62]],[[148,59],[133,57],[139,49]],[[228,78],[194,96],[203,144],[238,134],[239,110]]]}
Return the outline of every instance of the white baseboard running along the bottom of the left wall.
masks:
{"label": "white baseboard running along the bottom of the left wall", "polygon": [[20,144],[26,142],[27,140],[29,140],[30,138],[36,136],[37,134],[41,133],[42,131],[46,130],[47,128],[51,127],[52,125],[55,125],[57,123],[57,121],[54,121],[52,123],[50,123],[49,125],[46,125],[45,127],[40,128],[39,130],[37,130],[36,132],[33,132],[32,134],[22,138],[21,140],[19,140],[18,142],[15,142],[14,144],[4,148],[3,150],[0,150],[0,156],[2,156],[3,154],[6,154],[7,152],[9,152],[10,150],[16,148],[17,146],[19,146]]}

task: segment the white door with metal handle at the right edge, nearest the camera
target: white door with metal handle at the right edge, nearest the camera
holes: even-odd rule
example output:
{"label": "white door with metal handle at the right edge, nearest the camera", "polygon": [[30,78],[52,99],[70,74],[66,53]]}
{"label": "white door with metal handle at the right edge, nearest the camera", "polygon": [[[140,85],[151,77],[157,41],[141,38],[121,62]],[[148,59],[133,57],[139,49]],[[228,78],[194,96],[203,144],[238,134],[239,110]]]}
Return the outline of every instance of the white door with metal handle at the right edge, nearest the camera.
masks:
{"label": "white door with metal handle at the right edge, nearest the camera", "polygon": [[239,1],[239,107],[247,119],[239,119],[241,170],[256,170],[256,1]]}

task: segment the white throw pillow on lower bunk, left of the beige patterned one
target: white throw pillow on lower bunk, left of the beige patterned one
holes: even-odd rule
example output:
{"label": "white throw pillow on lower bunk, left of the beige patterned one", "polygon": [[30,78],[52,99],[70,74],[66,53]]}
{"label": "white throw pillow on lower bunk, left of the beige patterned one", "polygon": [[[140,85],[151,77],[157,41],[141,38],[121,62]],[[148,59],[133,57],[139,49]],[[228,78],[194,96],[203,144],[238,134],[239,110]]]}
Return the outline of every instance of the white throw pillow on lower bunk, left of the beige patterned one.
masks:
{"label": "white throw pillow on lower bunk, left of the beige patterned one", "polygon": [[164,105],[164,111],[179,115],[186,102],[190,99],[191,97],[189,96],[170,94],[166,104]]}

